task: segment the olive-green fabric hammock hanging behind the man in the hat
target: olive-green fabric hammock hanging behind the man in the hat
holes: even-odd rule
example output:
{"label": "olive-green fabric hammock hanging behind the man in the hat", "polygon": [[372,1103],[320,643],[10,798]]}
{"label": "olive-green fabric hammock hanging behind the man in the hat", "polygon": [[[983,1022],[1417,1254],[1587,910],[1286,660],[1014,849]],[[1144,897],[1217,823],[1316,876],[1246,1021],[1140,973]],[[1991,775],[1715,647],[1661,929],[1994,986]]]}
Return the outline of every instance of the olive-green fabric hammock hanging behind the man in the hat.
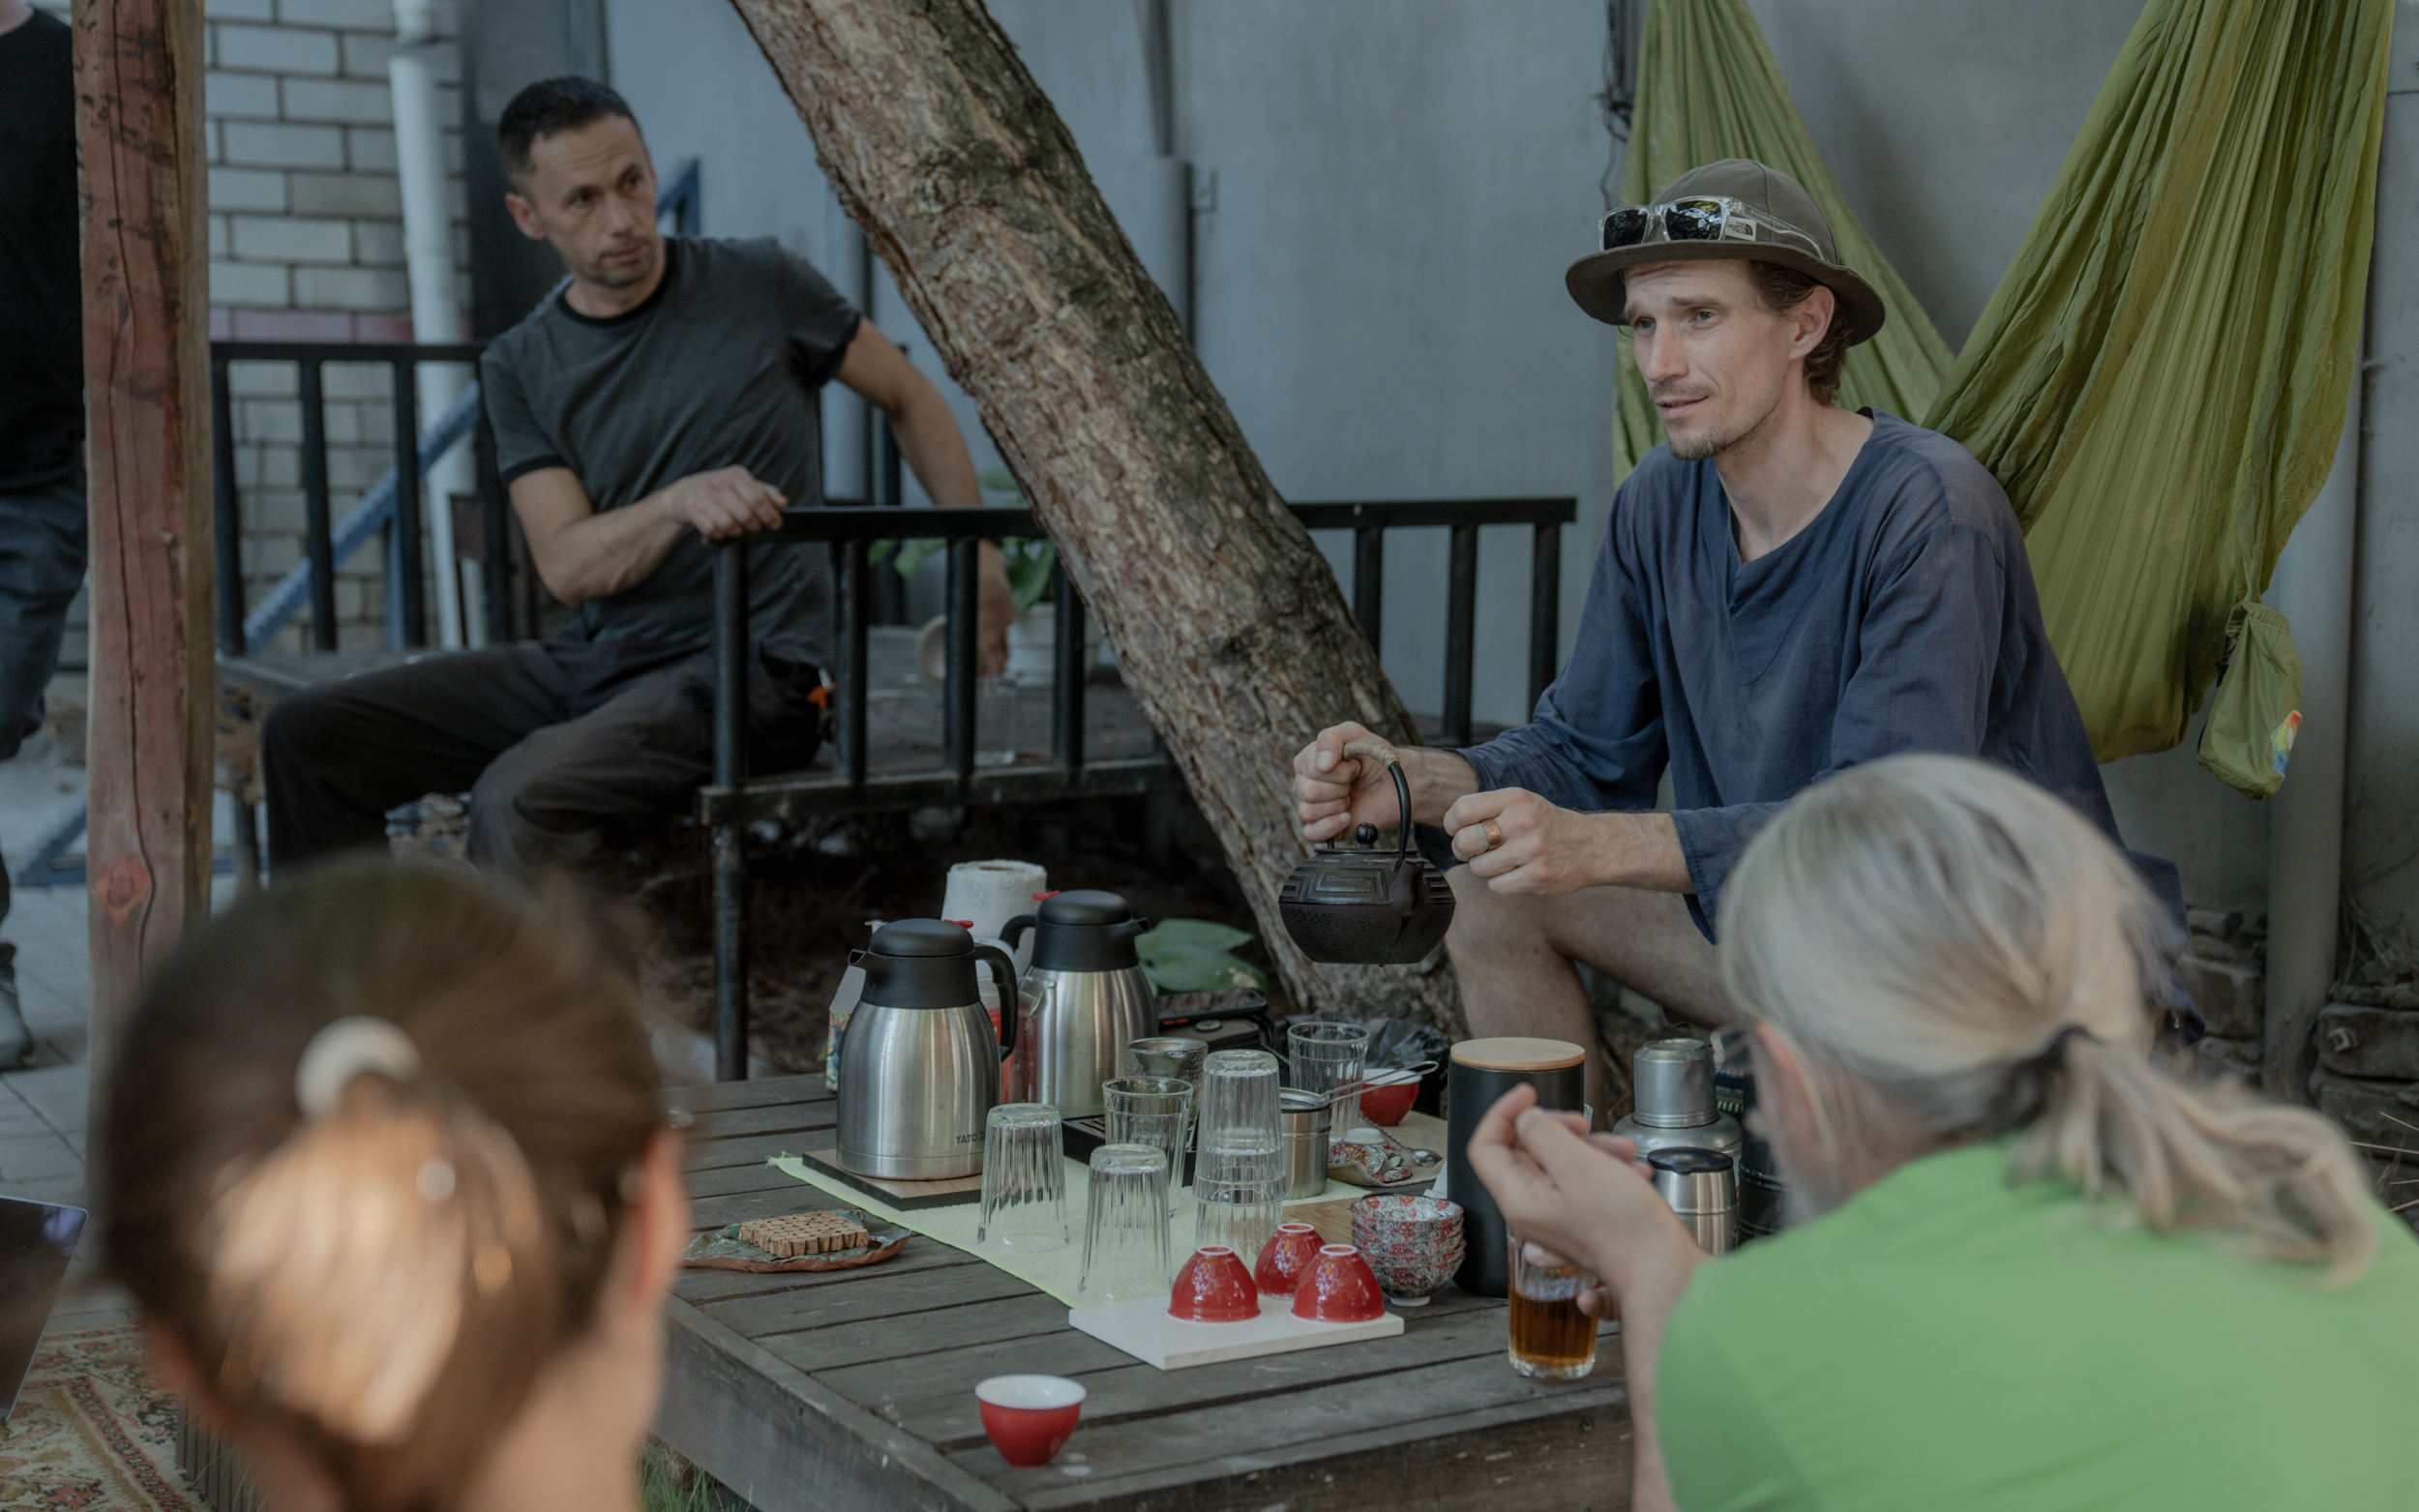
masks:
{"label": "olive-green fabric hammock hanging behind the man in the hat", "polygon": [[[2150,0],[1940,380],[1940,336],[1848,213],[1747,2],[1647,15],[1623,196],[1715,157],[1807,186],[1889,305],[1843,402],[1923,414],[2008,489],[2100,760],[2182,740],[2233,646],[2201,762],[2255,793],[2284,777],[2300,663],[2257,600],[2344,423],[2390,19],[2390,0]],[[1616,474],[1657,440],[1623,363]]]}

